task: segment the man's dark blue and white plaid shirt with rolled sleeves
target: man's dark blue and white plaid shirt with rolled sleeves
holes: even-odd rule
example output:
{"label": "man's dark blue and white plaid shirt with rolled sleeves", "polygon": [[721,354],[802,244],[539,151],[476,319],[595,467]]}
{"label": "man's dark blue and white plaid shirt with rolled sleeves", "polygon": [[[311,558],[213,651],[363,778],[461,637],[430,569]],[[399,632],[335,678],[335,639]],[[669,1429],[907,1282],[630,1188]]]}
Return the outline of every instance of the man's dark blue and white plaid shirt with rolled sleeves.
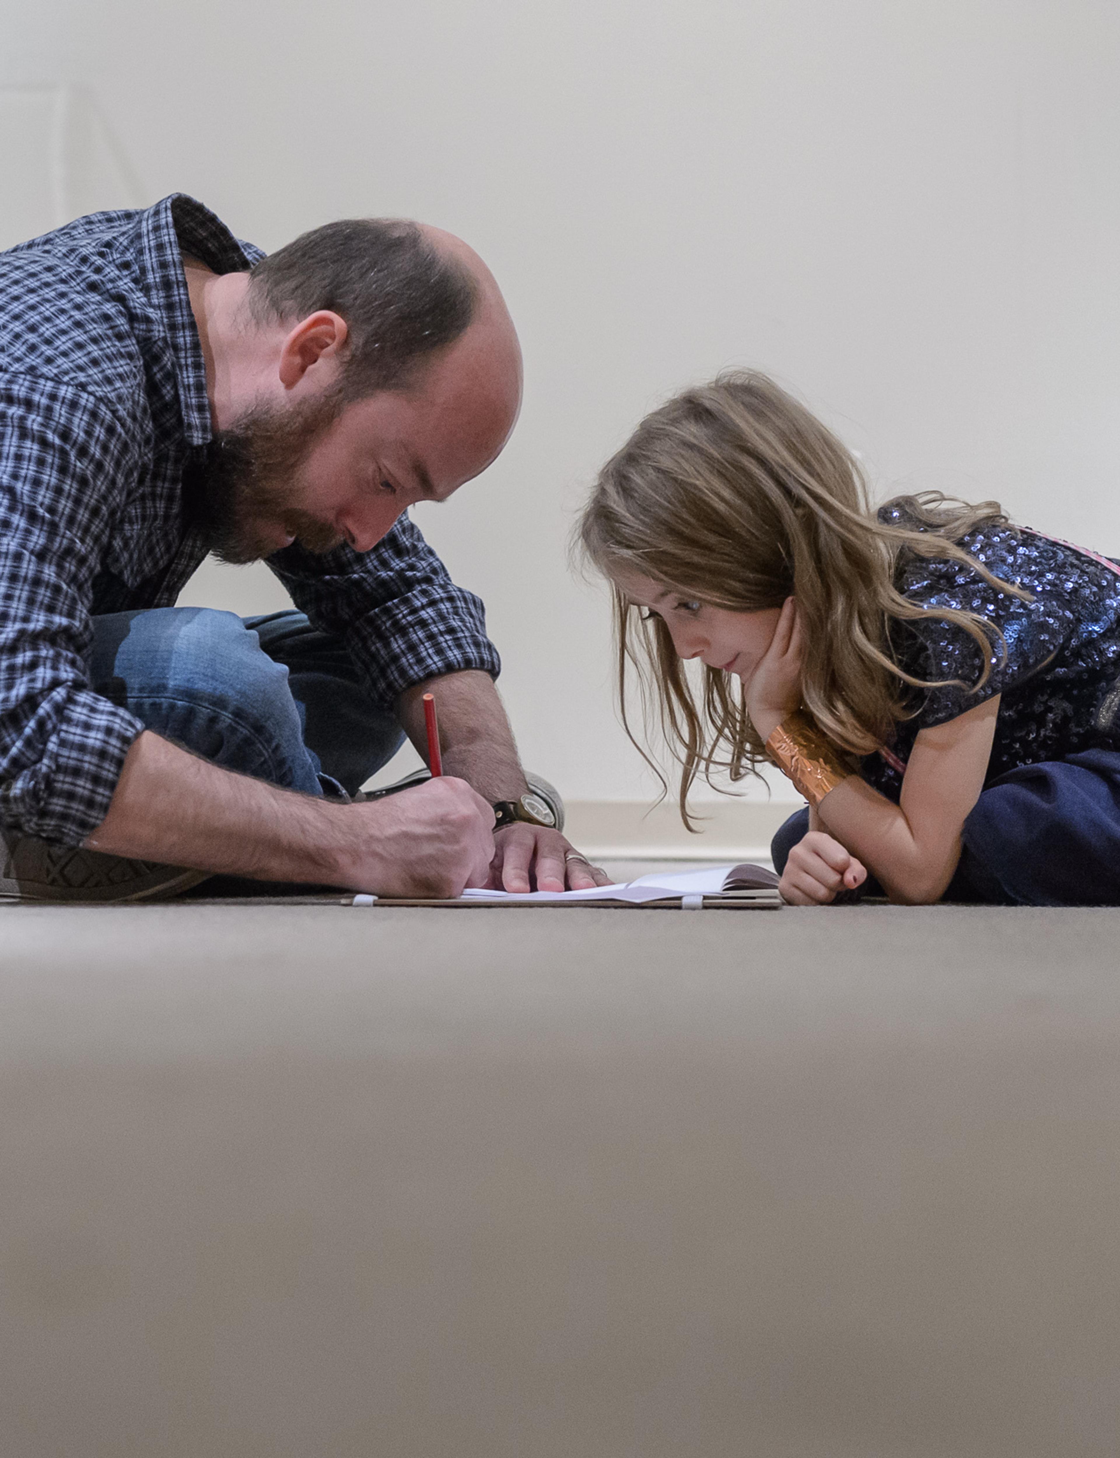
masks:
{"label": "man's dark blue and white plaid shirt with rolled sleeves", "polygon": [[[0,254],[0,824],[66,844],[143,729],[89,685],[90,617],[171,607],[207,551],[184,502],[211,421],[182,252],[217,273],[264,257],[184,195]],[[382,703],[499,671],[481,602],[405,518],[372,551],[268,566]]]}

